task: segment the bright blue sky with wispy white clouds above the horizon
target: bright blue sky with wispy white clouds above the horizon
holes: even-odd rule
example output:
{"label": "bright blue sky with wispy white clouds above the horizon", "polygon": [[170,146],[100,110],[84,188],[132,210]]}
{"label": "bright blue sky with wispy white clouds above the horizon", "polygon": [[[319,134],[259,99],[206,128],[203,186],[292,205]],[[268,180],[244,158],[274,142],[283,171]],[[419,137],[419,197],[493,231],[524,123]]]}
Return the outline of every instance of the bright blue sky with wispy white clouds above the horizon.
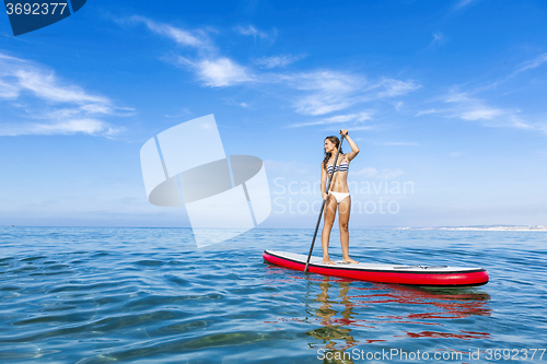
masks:
{"label": "bright blue sky with wispy white clouds above the horizon", "polygon": [[539,0],[89,1],[13,37],[4,15],[0,225],[188,226],[148,202],[139,151],[208,114],[226,154],[265,161],[264,227],[313,228],[341,128],[353,227],[546,224],[545,19]]}

